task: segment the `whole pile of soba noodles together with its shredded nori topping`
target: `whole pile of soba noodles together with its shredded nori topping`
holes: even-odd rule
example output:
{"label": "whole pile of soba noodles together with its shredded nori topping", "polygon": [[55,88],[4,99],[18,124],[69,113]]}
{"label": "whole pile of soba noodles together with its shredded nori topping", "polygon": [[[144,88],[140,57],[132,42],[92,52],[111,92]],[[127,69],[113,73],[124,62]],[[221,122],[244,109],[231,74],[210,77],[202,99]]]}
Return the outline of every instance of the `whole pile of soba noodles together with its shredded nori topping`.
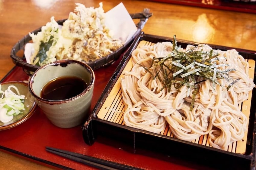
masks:
{"label": "whole pile of soba noodles together with its shredded nori topping", "polygon": [[225,149],[241,140],[248,119],[238,104],[255,87],[249,65],[236,50],[171,42],[137,48],[133,68],[121,80],[127,126],[160,133],[169,124],[178,139],[209,134],[210,145]]}

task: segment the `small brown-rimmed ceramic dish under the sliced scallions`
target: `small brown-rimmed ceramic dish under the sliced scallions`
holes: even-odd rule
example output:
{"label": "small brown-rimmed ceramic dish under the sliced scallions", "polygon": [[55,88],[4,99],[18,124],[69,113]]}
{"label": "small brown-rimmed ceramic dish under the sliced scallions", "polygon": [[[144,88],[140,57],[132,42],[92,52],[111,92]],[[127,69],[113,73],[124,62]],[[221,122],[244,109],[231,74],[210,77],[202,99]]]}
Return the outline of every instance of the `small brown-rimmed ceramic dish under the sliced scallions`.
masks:
{"label": "small brown-rimmed ceramic dish under the sliced scallions", "polygon": [[24,121],[26,121],[28,118],[30,118],[30,116],[33,115],[37,105],[34,100],[34,97],[29,93],[27,83],[14,81],[14,82],[3,82],[1,83],[1,85],[2,85],[2,91],[5,91],[8,88],[8,86],[14,85],[18,88],[20,94],[25,95],[24,112],[22,114],[18,114],[17,116],[14,116],[13,119],[9,122],[3,123],[0,121],[0,130],[6,130],[9,128],[15,127],[23,123]]}

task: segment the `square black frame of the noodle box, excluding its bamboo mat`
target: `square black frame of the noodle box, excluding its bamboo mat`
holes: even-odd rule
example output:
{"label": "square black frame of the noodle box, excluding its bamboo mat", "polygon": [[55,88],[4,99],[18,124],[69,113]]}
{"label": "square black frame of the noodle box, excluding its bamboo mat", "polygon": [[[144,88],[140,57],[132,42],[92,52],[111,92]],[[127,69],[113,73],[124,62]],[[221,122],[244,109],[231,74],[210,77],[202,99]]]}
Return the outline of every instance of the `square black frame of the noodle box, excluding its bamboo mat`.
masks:
{"label": "square black frame of the noodle box, excluding its bamboo mat", "polygon": [[[161,134],[151,133],[136,128],[120,125],[97,118],[97,113],[106,100],[109,92],[122,73],[126,63],[131,57],[131,52],[136,49],[140,41],[145,40],[152,43],[171,41],[172,38],[144,34],[141,32],[133,44],[123,55],[120,64],[107,83],[101,97],[94,107],[91,115],[82,126],[82,134],[86,144],[92,145],[95,140],[104,144],[117,147],[128,152],[144,154],[163,160],[181,160],[194,164],[204,165],[217,169],[255,169],[255,113],[256,113],[256,89],[252,92],[251,112],[248,125],[248,137],[245,154],[237,154],[212,147],[195,144],[171,138]],[[199,45],[199,43],[177,39],[177,45],[185,48],[187,44]],[[208,44],[210,45],[210,44]],[[210,45],[213,49],[229,50],[230,47]],[[256,61],[256,52],[244,49],[236,50],[245,59]],[[256,82],[256,70],[254,68],[254,83]]]}

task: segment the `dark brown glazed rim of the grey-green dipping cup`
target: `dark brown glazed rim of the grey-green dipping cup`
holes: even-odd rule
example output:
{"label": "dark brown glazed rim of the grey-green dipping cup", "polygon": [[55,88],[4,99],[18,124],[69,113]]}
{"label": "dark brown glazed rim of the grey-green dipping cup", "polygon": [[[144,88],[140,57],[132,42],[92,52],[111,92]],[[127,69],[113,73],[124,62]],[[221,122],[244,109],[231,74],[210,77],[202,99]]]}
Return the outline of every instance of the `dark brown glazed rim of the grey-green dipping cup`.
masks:
{"label": "dark brown glazed rim of the grey-green dipping cup", "polygon": [[[32,84],[34,82],[34,77],[36,76],[37,72],[40,71],[41,69],[44,69],[46,68],[47,66],[56,66],[56,65],[66,65],[66,64],[69,64],[69,63],[77,63],[81,66],[83,66],[86,70],[88,70],[88,72],[90,73],[91,75],[91,81],[90,83],[88,84],[87,88],[80,94],[74,96],[74,97],[71,97],[71,98],[68,98],[68,99],[65,99],[65,100],[47,100],[47,99],[44,99],[40,96],[38,96],[34,90],[32,89]],[[56,60],[56,61],[53,61],[51,63],[47,63],[43,66],[41,66],[39,69],[37,69],[33,74],[32,76],[30,77],[29,79],[29,82],[28,82],[28,87],[29,87],[29,91],[30,91],[30,94],[32,96],[34,96],[37,100],[39,101],[43,101],[47,104],[62,104],[62,103],[66,103],[66,102],[70,102],[72,100],[75,100],[79,97],[81,97],[82,95],[84,95],[85,93],[87,93],[88,91],[90,91],[91,87],[94,85],[94,80],[95,80],[95,75],[94,75],[94,71],[92,70],[92,68],[86,64],[86,63],[83,63],[82,61],[78,61],[78,60],[69,60],[69,59],[64,59],[64,60]]]}

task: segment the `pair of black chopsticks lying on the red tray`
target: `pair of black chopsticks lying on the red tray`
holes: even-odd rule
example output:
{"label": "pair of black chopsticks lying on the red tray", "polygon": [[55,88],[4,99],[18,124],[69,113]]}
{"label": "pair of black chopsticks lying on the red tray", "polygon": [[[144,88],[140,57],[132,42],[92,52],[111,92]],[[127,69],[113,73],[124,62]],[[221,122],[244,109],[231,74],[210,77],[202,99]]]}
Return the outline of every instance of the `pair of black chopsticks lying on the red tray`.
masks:
{"label": "pair of black chopsticks lying on the red tray", "polygon": [[134,168],[129,165],[124,165],[116,162],[107,161],[104,159],[99,159],[87,155],[82,155],[80,153],[70,152],[67,150],[61,150],[53,147],[46,147],[46,151],[54,153],[56,155],[71,159],[76,162],[83,163],[85,165],[92,166],[99,169],[120,169],[120,170],[137,170],[139,168]]}

